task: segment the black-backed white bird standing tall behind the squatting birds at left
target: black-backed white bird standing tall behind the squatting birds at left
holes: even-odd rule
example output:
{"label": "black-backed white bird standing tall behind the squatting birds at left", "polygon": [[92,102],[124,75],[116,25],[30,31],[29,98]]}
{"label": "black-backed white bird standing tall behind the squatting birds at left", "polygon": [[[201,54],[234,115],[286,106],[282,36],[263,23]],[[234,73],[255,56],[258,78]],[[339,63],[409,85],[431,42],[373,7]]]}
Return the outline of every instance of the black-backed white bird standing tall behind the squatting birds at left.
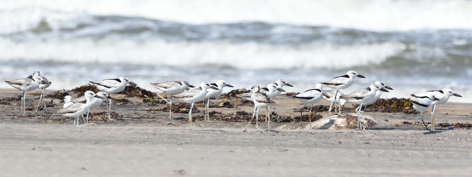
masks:
{"label": "black-backed white bird standing tall behind the squatting birds at left", "polygon": [[[137,86],[137,84],[135,84],[134,82],[129,81],[127,77],[119,77],[118,79],[105,79],[101,81],[89,81],[89,83],[97,87],[97,89],[100,90],[101,92],[108,93],[110,96],[113,96],[113,93],[124,91],[126,88],[126,84]],[[108,100],[110,100],[110,102],[108,102],[107,104],[108,120],[114,120],[110,118],[111,99],[107,99],[107,101]]]}

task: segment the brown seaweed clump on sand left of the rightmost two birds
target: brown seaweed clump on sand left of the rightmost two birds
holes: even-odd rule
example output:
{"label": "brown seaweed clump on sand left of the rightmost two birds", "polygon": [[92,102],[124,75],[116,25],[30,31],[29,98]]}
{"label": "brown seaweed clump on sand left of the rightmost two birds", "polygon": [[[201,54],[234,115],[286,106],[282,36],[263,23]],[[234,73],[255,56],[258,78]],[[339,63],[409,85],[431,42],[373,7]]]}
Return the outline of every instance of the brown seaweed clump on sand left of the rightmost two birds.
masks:
{"label": "brown seaweed clump on sand left of the rightmost two birds", "polygon": [[[350,110],[355,110],[359,105],[354,105]],[[405,98],[379,99],[374,104],[367,106],[366,111],[378,112],[403,112],[406,114],[418,113],[413,109],[413,100]]]}

